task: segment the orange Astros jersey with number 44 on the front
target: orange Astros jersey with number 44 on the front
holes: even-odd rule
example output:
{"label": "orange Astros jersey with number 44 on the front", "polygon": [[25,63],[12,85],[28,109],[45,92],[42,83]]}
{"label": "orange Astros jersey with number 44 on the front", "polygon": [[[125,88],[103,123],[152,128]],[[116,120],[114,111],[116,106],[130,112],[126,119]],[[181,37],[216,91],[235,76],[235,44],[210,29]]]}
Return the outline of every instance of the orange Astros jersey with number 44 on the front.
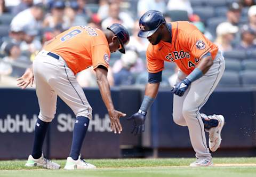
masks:
{"label": "orange Astros jersey with number 44 on the front", "polygon": [[157,45],[148,45],[146,58],[149,73],[162,71],[164,61],[168,61],[175,62],[188,75],[206,53],[210,52],[214,60],[218,47],[193,24],[188,21],[175,21],[170,24],[172,43],[161,41]]}

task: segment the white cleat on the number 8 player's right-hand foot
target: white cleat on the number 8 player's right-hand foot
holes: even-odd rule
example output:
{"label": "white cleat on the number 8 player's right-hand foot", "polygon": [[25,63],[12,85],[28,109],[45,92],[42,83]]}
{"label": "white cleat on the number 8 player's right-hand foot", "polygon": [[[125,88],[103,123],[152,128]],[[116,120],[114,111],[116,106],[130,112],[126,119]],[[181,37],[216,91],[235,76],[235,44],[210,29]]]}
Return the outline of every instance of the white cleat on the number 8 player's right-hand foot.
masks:
{"label": "white cleat on the number 8 player's right-hand foot", "polygon": [[73,158],[68,157],[66,165],[64,169],[66,170],[75,170],[75,169],[93,169],[96,168],[94,165],[89,164],[84,161],[84,159],[81,158],[81,155],[78,156],[77,160],[73,160]]}

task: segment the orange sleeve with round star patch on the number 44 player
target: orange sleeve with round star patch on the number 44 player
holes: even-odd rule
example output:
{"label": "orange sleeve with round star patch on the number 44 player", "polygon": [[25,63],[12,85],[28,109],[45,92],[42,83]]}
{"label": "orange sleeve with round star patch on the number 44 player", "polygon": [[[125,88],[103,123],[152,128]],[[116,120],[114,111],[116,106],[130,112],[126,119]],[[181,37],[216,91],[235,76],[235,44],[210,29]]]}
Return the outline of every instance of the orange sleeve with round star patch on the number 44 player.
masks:
{"label": "orange sleeve with round star patch on the number 44 player", "polygon": [[197,59],[201,59],[203,55],[211,50],[205,36],[199,30],[194,30],[193,33],[189,35],[187,47],[191,54]]}

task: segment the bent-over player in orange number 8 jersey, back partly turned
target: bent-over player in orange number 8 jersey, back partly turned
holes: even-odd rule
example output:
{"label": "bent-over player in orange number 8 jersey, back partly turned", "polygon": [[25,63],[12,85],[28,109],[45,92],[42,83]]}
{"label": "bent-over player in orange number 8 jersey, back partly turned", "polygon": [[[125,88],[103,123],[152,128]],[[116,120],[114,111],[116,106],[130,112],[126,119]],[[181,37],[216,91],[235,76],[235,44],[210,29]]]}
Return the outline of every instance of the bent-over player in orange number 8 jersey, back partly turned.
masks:
{"label": "bent-over player in orange number 8 jersey, back partly turned", "polygon": [[86,68],[93,67],[100,93],[105,103],[111,122],[111,130],[122,132],[119,118],[126,114],[115,110],[107,80],[110,52],[119,50],[125,53],[124,45],[129,42],[129,33],[117,23],[101,31],[89,26],[71,27],[43,47],[33,62],[33,72],[28,70],[18,78],[18,86],[25,89],[33,84],[35,77],[36,94],[40,107],[35,126],[33,152],[28,157],[26,166],[42,166],[59,169],[60,165],[46,159],[42,146],[47,127],[56,112],[57,95],[73,110],[76,115],[73,141],[65,169],[95,168],[86,163],[79,155],[84,136],[92,117],[92,108],[76,81],[75,75]]}

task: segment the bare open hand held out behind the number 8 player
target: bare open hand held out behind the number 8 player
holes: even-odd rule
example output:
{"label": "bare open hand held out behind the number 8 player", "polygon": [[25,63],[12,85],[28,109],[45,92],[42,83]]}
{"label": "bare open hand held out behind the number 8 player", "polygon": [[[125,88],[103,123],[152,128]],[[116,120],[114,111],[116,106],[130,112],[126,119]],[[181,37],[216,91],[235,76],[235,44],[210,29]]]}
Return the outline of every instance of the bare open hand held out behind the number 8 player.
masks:
{"label": "bare open hand held out behind the number 8 player", "polygon": [[28,85],[31,87],[34,83],[34,74],[31,68],[28,68],[25,73],[17,79],[17,85],[21,87],[21,89],[26,89]]}

